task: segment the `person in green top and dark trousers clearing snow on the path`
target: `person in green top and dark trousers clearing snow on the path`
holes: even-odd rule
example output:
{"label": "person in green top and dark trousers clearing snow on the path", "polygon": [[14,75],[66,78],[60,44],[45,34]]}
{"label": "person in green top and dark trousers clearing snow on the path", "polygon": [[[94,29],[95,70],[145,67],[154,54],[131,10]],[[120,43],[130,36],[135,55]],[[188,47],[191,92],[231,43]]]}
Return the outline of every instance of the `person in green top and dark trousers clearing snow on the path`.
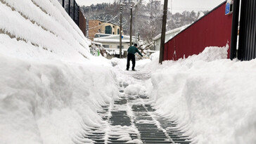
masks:
{"label": "person in green top and dark trousers clearing snow on the path", "polygon": [[129,70],[130,67],[130,60],[132,60],[132,70],[135,71],[134,67],[135,67],[135,53],[139,53],[139,55],[143,56],[139,50],[138,50],[138,45],[134,44],[134,46],[130,46],[128,48],[128,55],[127,55],[127,68],[126,70]]}

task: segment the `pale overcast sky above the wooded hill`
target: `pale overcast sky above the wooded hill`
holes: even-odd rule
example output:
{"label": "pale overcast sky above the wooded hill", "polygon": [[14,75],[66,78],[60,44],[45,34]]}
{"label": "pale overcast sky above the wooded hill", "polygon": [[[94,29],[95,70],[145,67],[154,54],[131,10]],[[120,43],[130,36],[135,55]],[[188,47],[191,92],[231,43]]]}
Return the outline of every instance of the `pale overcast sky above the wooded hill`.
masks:
{"label": "pale overcast sky above the wooded hill", "polygon": [[[91,4],[110,3],[114,0],[76,0],[79,5],[90,6]],[[143,0],[149,1],[149,0]],[[161,0],[162,3],[164,0]],[[215,8],[225,0],[168,0],[169,10],[173,13],[182,11],[206,11]]]}

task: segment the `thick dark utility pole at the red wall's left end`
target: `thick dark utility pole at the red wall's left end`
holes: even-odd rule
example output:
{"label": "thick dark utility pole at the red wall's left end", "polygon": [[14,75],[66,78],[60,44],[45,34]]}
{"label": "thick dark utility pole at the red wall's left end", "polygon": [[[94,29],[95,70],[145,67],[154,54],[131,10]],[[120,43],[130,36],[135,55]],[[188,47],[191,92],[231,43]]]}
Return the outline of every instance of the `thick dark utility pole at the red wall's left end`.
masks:
{"label": "thick dark utility pole at the red wall's left end", "polygon": [[162,36],[161,36],[161,44],[160,44],[160,55],[159,55],[159,63],[162,64],[164,60],[164,50],[165,50],[165,31],[166,31],[166,21],[167,21],[167,6],[168,0],[165,0],[164,4],[164,15],[162,15]]}

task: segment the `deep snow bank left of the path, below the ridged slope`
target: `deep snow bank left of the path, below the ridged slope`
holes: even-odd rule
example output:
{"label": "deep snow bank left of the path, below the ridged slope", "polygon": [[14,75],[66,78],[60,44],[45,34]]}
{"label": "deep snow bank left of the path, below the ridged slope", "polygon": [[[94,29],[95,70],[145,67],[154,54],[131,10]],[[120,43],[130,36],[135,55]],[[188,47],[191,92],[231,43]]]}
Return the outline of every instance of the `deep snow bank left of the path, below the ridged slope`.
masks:
{"label": "deep snow bank left of the path, below the ridged slope", "polygon": [[97,65],[1,55],[0,67],[1,143],[71,143],[82,125],[101,124],[96,110],[118,94],[113,72]]}

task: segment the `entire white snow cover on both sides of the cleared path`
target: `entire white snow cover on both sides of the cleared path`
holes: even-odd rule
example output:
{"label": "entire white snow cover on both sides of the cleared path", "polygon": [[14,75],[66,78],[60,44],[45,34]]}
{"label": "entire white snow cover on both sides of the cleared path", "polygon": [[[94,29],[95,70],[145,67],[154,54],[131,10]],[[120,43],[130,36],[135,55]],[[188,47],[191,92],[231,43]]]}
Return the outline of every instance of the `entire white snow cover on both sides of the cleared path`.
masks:
{"label": "entire white snow cover on both sides of the cleared path", "polygon": [[[105,124],[96,111],[120,95],[117,79],[130,84],[126,94],[146,91],[194,143],[256,143],[256,60],[228,60],[227,46],[163,65],[154,53],[136,62],[151,79],[135,84],[125,59],[89,54],[90,41],[57,0],[1,0],[0,18],[0,143],[93,143],[82,131]],[[130,140],[136,129],[122,131]]]}

